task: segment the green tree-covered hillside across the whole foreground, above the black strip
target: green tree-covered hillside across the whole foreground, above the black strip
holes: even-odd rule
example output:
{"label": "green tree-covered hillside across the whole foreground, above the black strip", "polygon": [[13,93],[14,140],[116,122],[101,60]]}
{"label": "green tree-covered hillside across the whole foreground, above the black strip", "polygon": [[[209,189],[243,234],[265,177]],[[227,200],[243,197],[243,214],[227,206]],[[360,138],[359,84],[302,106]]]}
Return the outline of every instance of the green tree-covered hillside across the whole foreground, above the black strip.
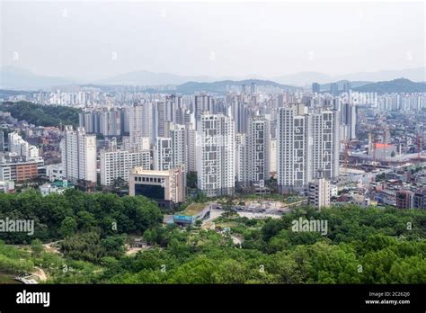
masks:
{"label": "green tree-covered hillside across the whole foreground, above the black strip", "polygon": [[[216,222],[229,234],[164,226],[141,196],[69,190],[0,194],[0,219],[11,216],[35,219],[35,234],[1,235],[0,272],[37,265],[48,283],[426,283],[424,210],[302,207],[280,219],[226,212]],[[292,231],[299,218],[327,220],[326,236]],[[126,255],[134,235],[148,248]],[[59,239],[60,254],[41,246]]]}

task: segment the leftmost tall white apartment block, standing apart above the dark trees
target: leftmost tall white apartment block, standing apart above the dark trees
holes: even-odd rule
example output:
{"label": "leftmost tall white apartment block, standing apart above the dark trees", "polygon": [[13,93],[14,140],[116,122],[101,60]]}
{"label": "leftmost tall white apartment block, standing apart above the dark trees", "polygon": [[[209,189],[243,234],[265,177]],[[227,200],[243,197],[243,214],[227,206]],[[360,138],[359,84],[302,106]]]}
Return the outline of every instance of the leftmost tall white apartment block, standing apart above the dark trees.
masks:
{"label": "leftmost tall white apartment block, standing apart above the dark trees", "polygon": [[87,135],[84,128],[67,126],[60,143],[62,170],[67,180],[96,183],[96,136]]}

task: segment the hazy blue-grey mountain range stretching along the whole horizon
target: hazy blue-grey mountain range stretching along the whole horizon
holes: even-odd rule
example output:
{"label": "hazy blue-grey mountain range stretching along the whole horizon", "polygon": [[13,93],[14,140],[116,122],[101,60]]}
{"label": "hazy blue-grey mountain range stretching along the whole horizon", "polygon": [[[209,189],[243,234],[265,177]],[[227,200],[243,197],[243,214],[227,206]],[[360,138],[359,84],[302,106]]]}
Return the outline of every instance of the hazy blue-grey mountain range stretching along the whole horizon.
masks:
{"label": "hazy blue-grey mountain range stretching along the whole horizon", "polygon": [[[72,78],[64,78],[57,76],[40,76],[31,73],[28,70],[19,67],[1,67],[0,68],[0,88],[7,90],[39,90],[46,89],[52,86],[60,85],[175,85],[176,93],[188,94],[196,91],[206,91],[211,93],[223,93],[229,85],[243,85],[246,84],[250,88],[251,82],[256,82],[257,85],[270,85],[276,86],[284,90],[297,90],[299,86],[310,88],[312,82],[321,84],[322,90],[329,90],[331,82],[337,82],[342,89],[344,82],[350,81],[351,86],[358,89],[365,86],[365,90],[377,89],[380,92],[386,90],[381,85],[375,85],[375,82],[385,82],[399,77],[404,77],[406,80],[413,82],[426,81],[425,74],[426,67],[410,68],[404,70],[394,71],[378,71],[378,72],[365,72],[348,74],[344,76],[328,76],[318,72],[300,72],[293,75],[278,76],[271,80],[268,79],[239,79],[235,77],[211,77],[211,76],[179,76],[170,73],[154,73],[149,71],[134,71],[129,73],[120,74],[118,76],[111,76],[109,78],[95,80],[91,82],[79,81]],[[382,83],[377,83],[382,84]],[[398,90],[405,90],[404,86],[409,90],[422,89],[422,83],[416,86],[404,83],[395,83],[390,85]],[[420,84],[420,85],[419,85]],[[402,89],[401,89],[402,88]],[[390,90],[389,89],[389,90]]]}

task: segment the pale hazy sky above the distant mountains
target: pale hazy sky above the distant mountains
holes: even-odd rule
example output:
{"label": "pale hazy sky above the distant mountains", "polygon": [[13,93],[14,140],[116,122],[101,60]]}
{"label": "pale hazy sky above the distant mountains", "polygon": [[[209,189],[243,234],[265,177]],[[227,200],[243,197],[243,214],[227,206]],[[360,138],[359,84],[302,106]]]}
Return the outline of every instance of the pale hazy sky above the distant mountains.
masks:
{"label": "pale hazy sky above the distant mountains", "polygon": [[40,75],[338,75],[425,61],[422,2],[2,1],[1,9],[1,65]]}

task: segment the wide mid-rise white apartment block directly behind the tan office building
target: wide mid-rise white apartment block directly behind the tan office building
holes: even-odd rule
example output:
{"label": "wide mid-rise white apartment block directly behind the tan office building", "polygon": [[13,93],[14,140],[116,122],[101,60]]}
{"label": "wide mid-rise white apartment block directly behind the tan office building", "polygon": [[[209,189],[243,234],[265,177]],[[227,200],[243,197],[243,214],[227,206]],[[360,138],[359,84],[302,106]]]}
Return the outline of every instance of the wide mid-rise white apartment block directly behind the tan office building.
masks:
{"label": "wide mid-rise white apartment block directly behind the tan office building", "polygon": [[116,179],[129,181],[129,173],[134,167],[151,169],[151,153],[149,150],[129,152],[124,150],[101,151],[101,184],[109,186]]}

